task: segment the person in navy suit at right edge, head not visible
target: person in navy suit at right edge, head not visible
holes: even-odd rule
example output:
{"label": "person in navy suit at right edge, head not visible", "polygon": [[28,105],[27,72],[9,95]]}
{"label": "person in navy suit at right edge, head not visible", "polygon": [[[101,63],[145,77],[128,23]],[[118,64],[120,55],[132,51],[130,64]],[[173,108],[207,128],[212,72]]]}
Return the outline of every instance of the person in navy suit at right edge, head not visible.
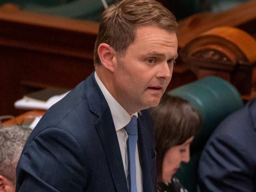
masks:
{"label": "person in navy suit at right edge, head not visible", "polygon": [[256,191],[256,99],[228,116],[200,157],[201,192]]}

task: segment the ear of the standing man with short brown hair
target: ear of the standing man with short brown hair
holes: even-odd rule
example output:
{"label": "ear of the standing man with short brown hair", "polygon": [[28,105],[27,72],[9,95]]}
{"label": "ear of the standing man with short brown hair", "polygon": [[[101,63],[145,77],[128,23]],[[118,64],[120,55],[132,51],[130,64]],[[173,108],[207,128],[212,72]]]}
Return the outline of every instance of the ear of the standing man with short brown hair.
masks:
{"label": "ear of the standing man with short brown hair", "polygon": [[114,57],[115,50],[106,43],[101,43],[98,46],[98,56],[102,65],[107,68],[109,71],[114,72]]}

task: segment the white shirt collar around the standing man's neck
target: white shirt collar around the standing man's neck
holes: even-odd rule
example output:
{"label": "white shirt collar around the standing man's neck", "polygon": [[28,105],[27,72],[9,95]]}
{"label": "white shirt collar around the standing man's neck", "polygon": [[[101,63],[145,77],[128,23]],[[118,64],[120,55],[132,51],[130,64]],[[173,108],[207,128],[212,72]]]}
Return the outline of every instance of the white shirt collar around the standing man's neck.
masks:
{"label": "white shirt collar around the standing man's neck", "polygon": [[113,98],[113,96],[109,93],[109,91],[106,89],[102,81],[100,81],[100,78],[98,77],[96,71],[94,73],[96,82],[98,83],[98,86],[100,87],[100,90],[102,91],[108,106],[111,111],[111,115],[113,118],[113,122],[115,125],[115,130],[118,131],[125,127],[131,120],[132,116],[138,117],[138,113],[134,113],[130,115],[116,100]]}

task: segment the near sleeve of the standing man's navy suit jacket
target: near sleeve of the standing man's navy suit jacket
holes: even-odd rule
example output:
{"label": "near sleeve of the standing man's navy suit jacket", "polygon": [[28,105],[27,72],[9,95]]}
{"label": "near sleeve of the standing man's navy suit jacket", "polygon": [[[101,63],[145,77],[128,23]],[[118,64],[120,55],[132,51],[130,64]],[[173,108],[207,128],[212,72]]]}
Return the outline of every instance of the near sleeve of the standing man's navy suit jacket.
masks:
{"label": "near sleeve of the standing man's navy suit jacket", "polygon": [[66,131],[48,128],[26,144],[17,166],[19,192],[82,192],[87,182],[86,158]]}

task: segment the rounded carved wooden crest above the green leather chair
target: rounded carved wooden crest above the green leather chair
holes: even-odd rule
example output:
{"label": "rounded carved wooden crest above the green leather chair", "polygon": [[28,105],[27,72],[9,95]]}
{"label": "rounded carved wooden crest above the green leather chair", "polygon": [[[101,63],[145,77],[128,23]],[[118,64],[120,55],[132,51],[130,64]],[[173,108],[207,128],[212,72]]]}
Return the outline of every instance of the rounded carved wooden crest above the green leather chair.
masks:
{"label": "rounded carved wooden crest above the green leather chair", "polygon": [[256,40],[233,27],[213,28],[181,50],[182,59],[198,78],[219,76],[233,83],[240,94],[250,94],[256,62]]}

